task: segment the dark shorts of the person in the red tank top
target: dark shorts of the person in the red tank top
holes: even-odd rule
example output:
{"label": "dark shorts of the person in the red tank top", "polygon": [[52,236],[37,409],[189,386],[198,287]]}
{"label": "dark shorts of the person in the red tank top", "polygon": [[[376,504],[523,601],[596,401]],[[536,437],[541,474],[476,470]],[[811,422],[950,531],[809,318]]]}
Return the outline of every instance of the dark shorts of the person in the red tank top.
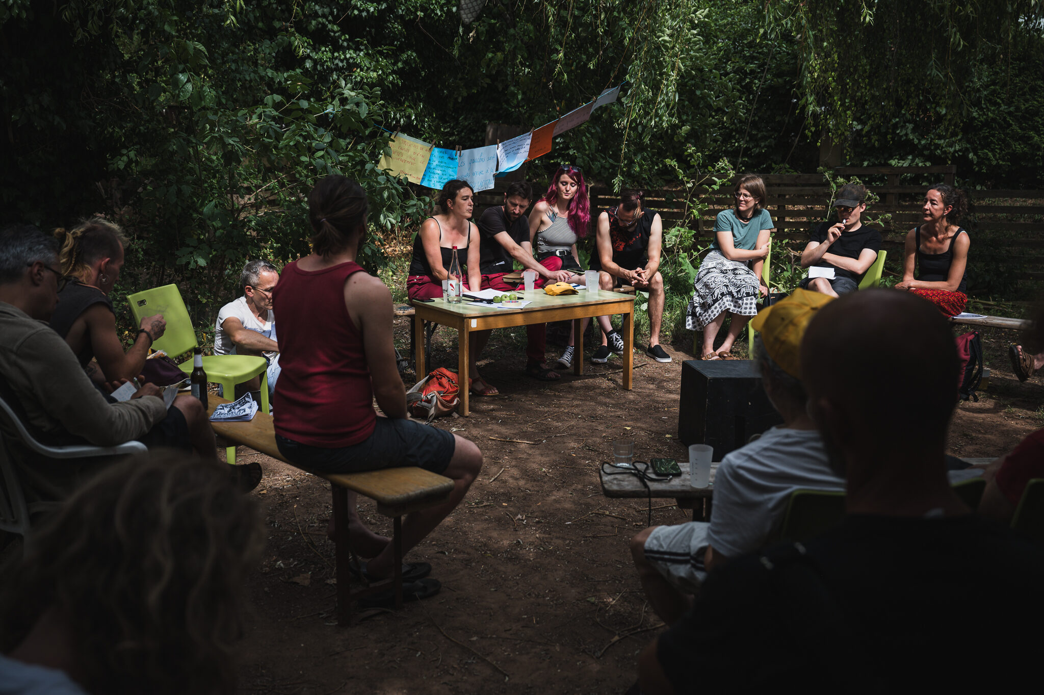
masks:
{"label": "dark shorts of the person in the red tank top", "polygon": [[378,417],[373,433],[350,447],[312,447],[278,434],[276,444],[286,460],[316,474],[360,473],[407,465],[442,474],[456,450],[456,439],[446,430],[401,417]]}

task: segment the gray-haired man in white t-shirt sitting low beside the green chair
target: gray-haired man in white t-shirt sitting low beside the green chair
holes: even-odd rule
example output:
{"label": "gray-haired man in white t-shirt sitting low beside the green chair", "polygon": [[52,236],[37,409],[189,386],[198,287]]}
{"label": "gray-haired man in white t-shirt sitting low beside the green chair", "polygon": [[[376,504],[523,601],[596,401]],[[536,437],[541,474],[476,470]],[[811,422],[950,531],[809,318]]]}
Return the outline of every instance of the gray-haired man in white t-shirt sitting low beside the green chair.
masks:
{"label": "gray-haired man in white t-shirt sitting low beside the green chair", "polygon": [[[276,313],[271,292],[279,282],[279,270],[268,261],[250,261],[239,275],[243,295],[221,307],[214,334],[215,355],[253,355],[268,363],[268,396],[276,392],[279,379],[279,342],[276,337]],[[244,382],[247,390],[261,388],[260,377]]]}

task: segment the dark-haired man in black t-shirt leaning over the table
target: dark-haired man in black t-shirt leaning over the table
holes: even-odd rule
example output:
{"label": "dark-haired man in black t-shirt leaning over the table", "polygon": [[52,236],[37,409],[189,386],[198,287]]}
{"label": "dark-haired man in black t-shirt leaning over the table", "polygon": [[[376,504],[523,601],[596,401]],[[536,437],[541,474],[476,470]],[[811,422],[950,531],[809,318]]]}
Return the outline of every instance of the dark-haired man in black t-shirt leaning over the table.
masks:
{"label": "dark-haired man in black t-shirt leaning over the table", "polygon": [[[475,222],[481,235],[480,268],[481,289],[514,291],[515,286],[504,282],[504,275],[515,269],[515,261],[527,270],[537,272],[537,287],[544,282],[569,280],[567,270],[548,270],[532,257],[529,243],[529,219],[525,211],[532,199],[532,187],[517,181],[504,192],[504,205],[488,208]],[[540,381],[557,381],[559,373],[547,366],[547,323],[530,323],[526,328],[525,373]]]}

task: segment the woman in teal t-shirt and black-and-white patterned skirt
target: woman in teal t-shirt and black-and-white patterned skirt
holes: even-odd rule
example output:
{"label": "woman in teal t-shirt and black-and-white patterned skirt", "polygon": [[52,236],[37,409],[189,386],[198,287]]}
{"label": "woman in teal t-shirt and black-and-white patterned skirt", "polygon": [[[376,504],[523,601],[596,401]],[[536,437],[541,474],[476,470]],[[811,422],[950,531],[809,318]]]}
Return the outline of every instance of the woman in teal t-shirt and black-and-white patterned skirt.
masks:
{"label": "woman in teal t-shirt and black-and-white patterned skirt", "polygon": [[[761,176],[744,174],[736,182],[736,207],[722,210],[714,220],[714,242],[699,264],[692,301],[685,316],[686,328],[704,332],[699,359],[731,359],[732,343],[758,313],[758,296],[767,295],[761,284],[761,265],[768,256],[769,233],[775,231],[765,203],[765,183]],[[714,339],[726,313],[732,323],[718,351]]]}

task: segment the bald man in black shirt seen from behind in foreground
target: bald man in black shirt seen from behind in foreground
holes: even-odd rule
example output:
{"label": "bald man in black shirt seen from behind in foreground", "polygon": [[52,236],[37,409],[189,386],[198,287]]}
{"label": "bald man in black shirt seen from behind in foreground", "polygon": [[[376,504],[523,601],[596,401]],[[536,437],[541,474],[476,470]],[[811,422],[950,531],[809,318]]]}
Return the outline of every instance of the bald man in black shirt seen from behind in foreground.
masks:
{"label": "bald man in black shirt seen from behind in foreground", "polygon": [[971,692],[1033,677],[1037,643],[1017,623],[1044,619],[1044,550],[971,514],[949,485],[957,365],[920,297],[867,290],[818,311],[802,379],[848,514],[712,572],[643,650],[642,692]]}

